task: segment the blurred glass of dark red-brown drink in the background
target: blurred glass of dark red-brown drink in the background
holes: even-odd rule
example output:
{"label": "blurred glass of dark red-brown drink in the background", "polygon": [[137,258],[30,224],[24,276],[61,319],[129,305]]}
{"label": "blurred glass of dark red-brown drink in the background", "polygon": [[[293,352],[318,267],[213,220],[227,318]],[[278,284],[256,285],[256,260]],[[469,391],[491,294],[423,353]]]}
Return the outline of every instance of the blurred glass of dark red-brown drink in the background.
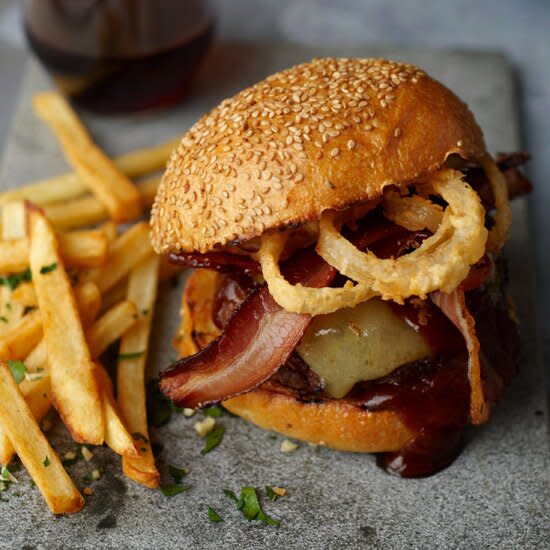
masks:
{"label": "blurred glass of dark red-brown drink in the background", "polygon": [[213,35],[206,0],[27,0],[28,42],[78,106],[114,114],[180,101]]}

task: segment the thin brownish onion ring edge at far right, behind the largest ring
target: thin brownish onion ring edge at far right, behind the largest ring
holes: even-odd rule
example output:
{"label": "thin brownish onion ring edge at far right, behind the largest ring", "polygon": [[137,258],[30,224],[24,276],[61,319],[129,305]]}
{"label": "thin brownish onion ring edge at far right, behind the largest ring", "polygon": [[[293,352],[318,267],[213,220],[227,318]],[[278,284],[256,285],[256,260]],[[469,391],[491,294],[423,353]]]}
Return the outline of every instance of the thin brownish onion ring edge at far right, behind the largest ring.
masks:
{"label": "thin brownish onion ring edge at far right, behind the largest ring", "polygon": [[506,179],[495,161],[491,158],[491,155],[483,155],[479,159],[479,163],[491,184],[496,209],[495,225],[489,231],[487,239],[487,251],[498,252],[508,240],[512,224],[512,210],[508,201],[508,186],[506,185]]}

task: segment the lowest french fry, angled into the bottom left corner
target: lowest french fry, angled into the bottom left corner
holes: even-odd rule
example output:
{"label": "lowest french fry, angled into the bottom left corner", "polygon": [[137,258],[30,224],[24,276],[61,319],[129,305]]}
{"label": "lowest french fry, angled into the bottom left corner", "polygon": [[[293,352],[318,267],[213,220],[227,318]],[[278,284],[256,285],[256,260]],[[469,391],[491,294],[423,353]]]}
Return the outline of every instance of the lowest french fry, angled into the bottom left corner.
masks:
{"label": "lowest french fry, angled into the bottom left corner", "polygon": [[5,363],[0,364],[0,424],[52,513],[78,512],[84,498],[40,430]]}

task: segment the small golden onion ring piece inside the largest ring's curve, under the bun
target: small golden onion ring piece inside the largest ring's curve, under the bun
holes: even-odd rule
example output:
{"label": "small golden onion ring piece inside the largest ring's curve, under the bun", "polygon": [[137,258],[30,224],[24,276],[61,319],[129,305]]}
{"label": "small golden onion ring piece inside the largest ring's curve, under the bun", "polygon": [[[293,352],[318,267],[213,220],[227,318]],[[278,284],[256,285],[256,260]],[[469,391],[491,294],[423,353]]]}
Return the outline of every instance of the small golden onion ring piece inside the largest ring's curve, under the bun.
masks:
{"label": "small golden onion ring piece inside the largest ring's curve, under the bun", "polygon": [[409,231],[427,228],[435,233],[443,218],[443,208],[438,204],[420,195],[402,197],[394,189],[384,193],[382,204],[384,216]]}

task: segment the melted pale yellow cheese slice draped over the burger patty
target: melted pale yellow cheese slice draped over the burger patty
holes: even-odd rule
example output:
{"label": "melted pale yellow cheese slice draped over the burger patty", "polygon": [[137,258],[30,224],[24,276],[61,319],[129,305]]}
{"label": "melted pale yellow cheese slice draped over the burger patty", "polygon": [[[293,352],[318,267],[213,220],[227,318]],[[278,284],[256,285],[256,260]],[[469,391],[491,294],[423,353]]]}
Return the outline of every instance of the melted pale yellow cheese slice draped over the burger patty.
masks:
{"label": "melted pale yellow cheese slice draped over the burger patty", "polygon": [[431,355],[426,341],[379,299],[318,315],[297,351],[335,398],[344,397],[356,382]]}

